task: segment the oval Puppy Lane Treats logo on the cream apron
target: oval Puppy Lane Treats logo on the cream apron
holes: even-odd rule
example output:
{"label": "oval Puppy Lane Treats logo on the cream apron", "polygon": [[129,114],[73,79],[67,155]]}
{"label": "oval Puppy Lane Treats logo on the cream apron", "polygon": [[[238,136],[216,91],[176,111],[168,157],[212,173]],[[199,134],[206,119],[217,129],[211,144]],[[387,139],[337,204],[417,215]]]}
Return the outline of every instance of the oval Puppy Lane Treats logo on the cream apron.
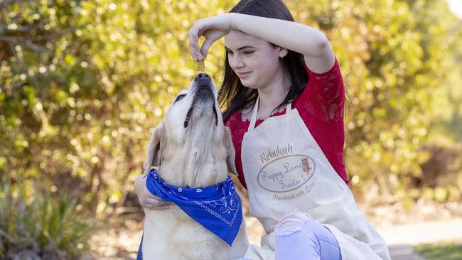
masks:
{"label": "oval Puppy Lane Treats logo on the cream apron", "polygon": [[274,193],[286,193],[305,184],[314,174],[316,165],[309,156],[294,154],[277,158],[260,170],[260,187]]}

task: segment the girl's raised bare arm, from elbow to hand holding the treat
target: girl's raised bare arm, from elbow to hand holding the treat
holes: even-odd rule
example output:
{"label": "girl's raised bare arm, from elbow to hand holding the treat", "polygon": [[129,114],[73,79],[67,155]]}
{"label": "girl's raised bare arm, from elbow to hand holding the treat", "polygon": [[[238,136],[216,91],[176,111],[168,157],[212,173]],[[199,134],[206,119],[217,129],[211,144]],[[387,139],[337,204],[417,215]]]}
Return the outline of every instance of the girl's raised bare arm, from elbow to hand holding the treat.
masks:
{"label": "girl's raised bare arm, from elbow to hand holding the treat", "polygon": [[[195,21],[189,31],[193,58],[205,57],[210,45],[231,30],[242,31],[303,54],[306,65],[313,72],[326,72],[335,62],[331,44],[321,31],[301,23],[242,13],[224,13]],[[197,44],[200,36],[205,36],[201,48]]]}

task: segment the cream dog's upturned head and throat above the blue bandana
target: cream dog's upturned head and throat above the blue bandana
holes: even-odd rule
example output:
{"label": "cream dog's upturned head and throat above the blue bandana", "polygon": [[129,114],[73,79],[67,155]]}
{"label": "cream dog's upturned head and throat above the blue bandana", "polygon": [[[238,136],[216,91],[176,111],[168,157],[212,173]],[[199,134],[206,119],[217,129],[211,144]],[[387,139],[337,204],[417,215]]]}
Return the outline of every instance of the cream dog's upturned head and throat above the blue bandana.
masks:
{"label": "cream dog's upturned head and throat above the blue bandana", "polygon": [[144,173],[159,166],[167,183],[184,187],[212,185],[228,171],[236,173],[230,129],[223,125],[217,96],[205,73],[178,93],[152,134]]}

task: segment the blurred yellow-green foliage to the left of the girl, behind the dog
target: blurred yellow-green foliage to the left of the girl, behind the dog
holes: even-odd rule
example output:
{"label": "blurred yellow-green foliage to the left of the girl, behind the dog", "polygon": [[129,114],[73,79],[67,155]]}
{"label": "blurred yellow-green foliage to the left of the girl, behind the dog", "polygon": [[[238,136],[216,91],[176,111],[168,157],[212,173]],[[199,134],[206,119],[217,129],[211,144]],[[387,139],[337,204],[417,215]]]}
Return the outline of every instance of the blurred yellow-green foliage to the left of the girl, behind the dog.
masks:
{"label": "blurred yellow-green foliage to the left of the girl, behind the dog", "polygon": [[141,172],[150,132],[193,77],[190,24],[220,9],[218,1],[14,1],[1,9],[5,172],[70,175],[93,210],[112,211]]}

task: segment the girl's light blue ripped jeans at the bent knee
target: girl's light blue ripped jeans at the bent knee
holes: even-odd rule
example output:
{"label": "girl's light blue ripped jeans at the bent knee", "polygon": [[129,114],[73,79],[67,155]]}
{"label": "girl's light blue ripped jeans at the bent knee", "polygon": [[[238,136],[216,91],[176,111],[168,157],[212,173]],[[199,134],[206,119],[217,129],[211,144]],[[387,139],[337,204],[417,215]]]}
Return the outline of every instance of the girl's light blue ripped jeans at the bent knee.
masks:
{"label": "girl's light blue ripped jeans at the bent knee", "polygon": [[331,231],[305,213],[284,215],[274,232],[276,260],[342,259],[337,239]]}

